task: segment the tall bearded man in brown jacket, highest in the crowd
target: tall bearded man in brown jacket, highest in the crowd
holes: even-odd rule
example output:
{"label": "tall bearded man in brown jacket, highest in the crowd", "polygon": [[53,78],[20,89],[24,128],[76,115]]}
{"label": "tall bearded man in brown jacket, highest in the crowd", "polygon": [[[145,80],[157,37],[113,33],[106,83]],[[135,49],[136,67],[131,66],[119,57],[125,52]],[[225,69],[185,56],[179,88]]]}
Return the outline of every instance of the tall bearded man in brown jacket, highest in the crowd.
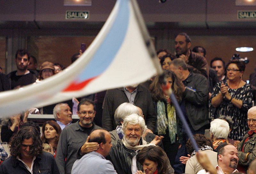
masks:
{"label": "tall bearded man in brown jacket, highest in the crowd", "polygon": [[207,79],[209,66],[204,56],[191,50],[191,39],[187,33],[179,33],[175,37],[176,57],[183,59],[188,64],[188,69],[194,73],[200,73]]}

